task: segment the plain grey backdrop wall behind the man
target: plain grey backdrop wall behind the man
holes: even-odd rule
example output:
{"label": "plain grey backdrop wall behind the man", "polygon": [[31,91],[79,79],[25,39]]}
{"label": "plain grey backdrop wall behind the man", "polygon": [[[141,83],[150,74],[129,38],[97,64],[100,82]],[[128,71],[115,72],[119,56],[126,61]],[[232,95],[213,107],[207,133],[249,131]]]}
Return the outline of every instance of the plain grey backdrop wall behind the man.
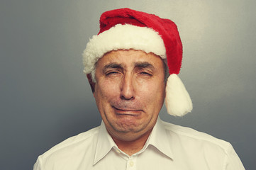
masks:
{"label": "plain grey backdrop wall behind the man", "polygon": [[129,7],[177,23],[180,77],[194,102],[160,117],[231,142],[255,169],[256,1],[1,0],[0,169],[32,169],[39,154],[99,125],[82,51],[102,12]]}

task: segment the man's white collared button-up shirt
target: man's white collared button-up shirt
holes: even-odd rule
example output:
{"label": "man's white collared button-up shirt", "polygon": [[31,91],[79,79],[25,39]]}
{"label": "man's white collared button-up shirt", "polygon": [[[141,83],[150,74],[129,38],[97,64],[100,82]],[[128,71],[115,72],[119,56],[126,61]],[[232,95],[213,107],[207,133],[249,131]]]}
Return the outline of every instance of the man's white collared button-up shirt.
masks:
{"label": "man's white collared button-up shirt", "polygon": [[244,167],[230,143],[158,118],[143,149],[130,157],[118,149],[101,123],[52,147],[38,157],[33,168],[53,169],[242,170]]}

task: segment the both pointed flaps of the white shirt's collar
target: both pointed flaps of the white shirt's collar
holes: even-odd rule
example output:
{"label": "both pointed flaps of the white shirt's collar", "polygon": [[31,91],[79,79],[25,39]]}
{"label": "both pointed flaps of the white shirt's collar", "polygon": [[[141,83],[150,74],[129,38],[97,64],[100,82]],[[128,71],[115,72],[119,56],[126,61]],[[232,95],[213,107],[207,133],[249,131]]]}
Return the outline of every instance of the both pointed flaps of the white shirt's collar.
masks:
{"label": "both pointed flaps of the white shirt's collar", "polygon": [[[160,118],[157,118],[157,123],[155,124],[150,137],[148,138],[145,146],[140,152],[143,152],[149,145],[154,146],[160,152],[165,154],[170,159],[173,158],[172,149],[170,147],[170,139],[167,136],[167,131],[165,130],[165,126],[162,123]],[[105,124],[101,121],[101,126],[99,128],[98,141],[96,145],[96,152],[94,157],[94,164],[99,162],[102,158],[108,154],[108,152],[112,149],[112,147],[116,147],[116,143],[113,142],[112,137],[108,134]],[[139,152],[138,152],[139,153]]]}

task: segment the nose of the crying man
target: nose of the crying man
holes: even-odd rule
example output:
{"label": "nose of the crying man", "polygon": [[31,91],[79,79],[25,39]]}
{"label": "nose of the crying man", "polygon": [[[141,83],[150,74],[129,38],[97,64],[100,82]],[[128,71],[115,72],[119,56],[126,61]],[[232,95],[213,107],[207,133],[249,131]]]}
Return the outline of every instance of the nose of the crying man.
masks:
{"label": "nose of the crying man", "polygon": [[135,98],[135,84],[133,77],[129,74],[123,76],[121,82],[121,98],[123,100],[132,100]]}

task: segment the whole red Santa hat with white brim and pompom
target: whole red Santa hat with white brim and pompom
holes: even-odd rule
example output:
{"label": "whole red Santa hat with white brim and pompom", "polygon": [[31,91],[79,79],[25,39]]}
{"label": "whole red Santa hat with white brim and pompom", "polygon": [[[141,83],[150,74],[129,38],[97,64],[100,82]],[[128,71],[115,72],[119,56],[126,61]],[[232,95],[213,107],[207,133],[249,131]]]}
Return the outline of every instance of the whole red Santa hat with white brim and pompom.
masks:
{"label": "whole red Santa hat with white brim and pompom", "polygon": [[90,74],[99,58],[112,50],[143,50],[167,60],[165,106],[170,115],[192,110],[191,98],[177,76],[182,66],[182,41],[174,22],[153,14],[121,8],[102,13],[100,30],[83,53],[84,73]]}

